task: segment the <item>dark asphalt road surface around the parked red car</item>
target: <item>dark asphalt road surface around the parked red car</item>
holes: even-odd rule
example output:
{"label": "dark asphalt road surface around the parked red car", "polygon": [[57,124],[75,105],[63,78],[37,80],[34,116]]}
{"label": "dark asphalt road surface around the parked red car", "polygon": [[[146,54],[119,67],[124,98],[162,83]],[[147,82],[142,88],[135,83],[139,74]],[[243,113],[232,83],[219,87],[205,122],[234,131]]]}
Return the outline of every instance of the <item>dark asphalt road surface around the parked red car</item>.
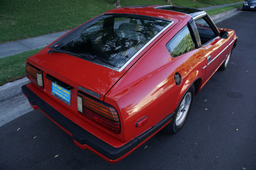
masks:
{"label": "dark asphalt road surface around the parked red car", "polygon": [[40,111],[0,127],[1,170],[256,170],[256,11],[217,24],[235,29],[238,45],[195,97],[189,119],[174,136],[157,133],[116,164],[72,138]]}

